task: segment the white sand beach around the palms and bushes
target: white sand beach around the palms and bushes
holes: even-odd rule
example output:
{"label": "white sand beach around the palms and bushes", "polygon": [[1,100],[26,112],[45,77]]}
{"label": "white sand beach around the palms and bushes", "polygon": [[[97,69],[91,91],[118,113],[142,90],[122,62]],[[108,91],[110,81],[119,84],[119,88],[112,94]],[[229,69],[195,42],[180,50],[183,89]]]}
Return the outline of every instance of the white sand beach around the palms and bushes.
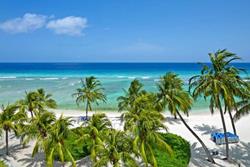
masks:
{"label": "white sand beach around the palms and bushes", "polygon": [[[59,117],[62,113],[64,116],[70,116],[77,118],[80,115],[85,115],[83,111],[75,110],[53,110],[56,113],[56,116]],[[89,112],[89,115],[92,115],[95,112]],[[97,112],[96,112],[97,113]],[[118,112],[105,112],[106,115],[112,120],[113,126],[117,129],[122,129],[122,125],[119,122],[119,116],[121,113]],[[205,144],[210,150],[216,149],[221,154],[220,157],[217,157],[215,161],[217,165],[212,165],[211,163],[205,160],[206,156],[201,148],[201,145],[197,142],[196,138],[187,130],[187,128],[182,124],[178,119],[173,119],[169,114],[164,114],[166,116],[166,125],[169,129],[169,132],[175,133],[182,136],[188,140],[191,144],[192,157],[190,161],[190,167],[213,167],[213,166],[239,166],[249,167],[250,166],[250,115],[242,118],[236,122],[237,133],[240,136],[240,143],[230,144],[230,156],[232,162],[223,161],[220,158],[224,156],[225,146],[217,146],[210,140],[210,134],[214,131],[222,131],[222,123],[220,115],[218,112],[214,115],[211,115],[209,111],[201,112],[191,112],[189,117],[185,117],[187,123],[193,128],[193,130],[202,138]],[[232,132],[231,123],[228,115],[225,115],[226,124],[228,131]],[[36,158],[31,158],[31,153],[34,143],[30,143],[25,149],[21,149],[19,145],[19,140],[15,137],[10,137],[10,156],[2,155],[4,153],[4,135],[0,140],[0,155],[2,159],[7,160],[12,166],[44,166],[43,155],[39,154]],[[89,160],[84,159],[78,162],[78,166],[90,166],[86,164]],[[237,163],[236,163],[237,162]],[[85,165],[83,165],[85,164]],[[56,164],[59,166],[59,164]]]}

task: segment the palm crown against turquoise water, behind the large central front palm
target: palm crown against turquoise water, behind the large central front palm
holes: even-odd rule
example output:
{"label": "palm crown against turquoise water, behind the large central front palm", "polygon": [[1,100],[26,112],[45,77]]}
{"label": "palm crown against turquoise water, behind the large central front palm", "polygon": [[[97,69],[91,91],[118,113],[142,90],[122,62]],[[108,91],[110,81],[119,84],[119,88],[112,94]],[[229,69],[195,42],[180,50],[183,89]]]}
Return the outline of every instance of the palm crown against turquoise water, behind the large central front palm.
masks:
{"label": "palm crown against turquoise water, behind the large central front palm", "polygon": [[140,83],[139,80],[135,79],[130,83],[128,91],[123,90],[125,96],[120,96],[117,98],[119,111],[130,110],[133,107],[135,99],[141,94],[145,93],[142,87],[143,84]]}

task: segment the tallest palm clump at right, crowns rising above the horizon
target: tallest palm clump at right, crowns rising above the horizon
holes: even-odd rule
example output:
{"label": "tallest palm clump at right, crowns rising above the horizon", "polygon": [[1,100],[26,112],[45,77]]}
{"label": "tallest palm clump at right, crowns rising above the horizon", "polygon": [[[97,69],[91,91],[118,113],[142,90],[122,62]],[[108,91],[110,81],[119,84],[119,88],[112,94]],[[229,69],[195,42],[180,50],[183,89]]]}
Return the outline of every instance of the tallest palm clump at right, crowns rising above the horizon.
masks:
{"label": "tallest palm clump at right, crowns rising above the horizon", "polygon": [[[235,125],[231,116],[233,109],[237,112],[236,98],[249,99],[249,85],[240,77],[241,69],[231,64],[232,61],[239,59],[234,53],[226,49],[218,50],[216,53],[209,53],[210,65],[204,64],[199,75],[193,76],[189,80],[189,91],[196,100],[203,96],[209,99],[209,108],[213,114],[215,109],[219,109],[224,134],[227,132],[224,113],[228,112],[231,123],[236,134]],[[224,111],[222,105],[225,105]],[[244,113],[244,112],[243,112]],[[247,114],[245,112],[242,115]],[[236,115],[237,116],[237,115]],[[240,118],[240,115],[236,117]],[[226,136],[226,135],[225,135]],[[227,136],[226,141],[226,159],[229,158],[229,146]]]}

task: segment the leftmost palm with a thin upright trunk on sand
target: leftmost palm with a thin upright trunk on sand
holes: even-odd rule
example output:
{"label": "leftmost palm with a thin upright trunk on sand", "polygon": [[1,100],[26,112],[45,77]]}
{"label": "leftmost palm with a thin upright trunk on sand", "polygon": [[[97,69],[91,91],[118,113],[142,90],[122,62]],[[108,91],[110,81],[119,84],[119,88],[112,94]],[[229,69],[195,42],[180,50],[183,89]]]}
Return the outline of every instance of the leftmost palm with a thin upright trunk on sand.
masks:
{"label": "leftmost palm with a thin upright trunk on sand", "polygon": [[16,132],[17,122],[19,119],[25,118],[22,112],[16,112],[18,107],[15,104],[2,106],[0,113],[0,129],[5,131],[6,154],[9,155],[9,132]]}

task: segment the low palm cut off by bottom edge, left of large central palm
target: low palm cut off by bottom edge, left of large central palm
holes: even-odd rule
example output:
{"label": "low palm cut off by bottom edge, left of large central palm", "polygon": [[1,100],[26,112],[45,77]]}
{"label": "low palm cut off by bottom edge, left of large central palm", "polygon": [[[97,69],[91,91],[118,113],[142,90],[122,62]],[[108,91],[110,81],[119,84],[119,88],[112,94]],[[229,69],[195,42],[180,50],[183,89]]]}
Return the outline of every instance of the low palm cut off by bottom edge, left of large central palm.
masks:
{"label": "low palm cut off by bottom edge, left of large central palm", "polygon": [[98,160],[94,167],[104,167],[111,164],[115,167],[138,167],[132,153],[132,141],[124,131],[110,130],[104,144],[97,146]]}

